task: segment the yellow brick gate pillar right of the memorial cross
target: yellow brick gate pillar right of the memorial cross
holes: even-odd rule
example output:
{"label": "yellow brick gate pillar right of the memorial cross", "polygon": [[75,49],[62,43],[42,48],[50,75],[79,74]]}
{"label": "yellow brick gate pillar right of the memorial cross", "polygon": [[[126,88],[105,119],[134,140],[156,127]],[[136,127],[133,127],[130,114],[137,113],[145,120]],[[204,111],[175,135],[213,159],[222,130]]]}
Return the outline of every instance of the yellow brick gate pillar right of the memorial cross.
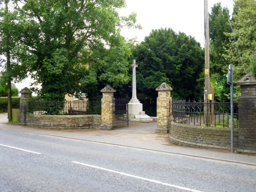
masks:
{"label": "yellow brick gate pillar right of the memorial cross", "polygon": [[156,89],[158,91],[156,133],[168,133],[170,130],[170,118],[172,118],[172,110],[170,109],[172,97],[170,97],[170,91],[172,90],[173,88],[165,82]]}

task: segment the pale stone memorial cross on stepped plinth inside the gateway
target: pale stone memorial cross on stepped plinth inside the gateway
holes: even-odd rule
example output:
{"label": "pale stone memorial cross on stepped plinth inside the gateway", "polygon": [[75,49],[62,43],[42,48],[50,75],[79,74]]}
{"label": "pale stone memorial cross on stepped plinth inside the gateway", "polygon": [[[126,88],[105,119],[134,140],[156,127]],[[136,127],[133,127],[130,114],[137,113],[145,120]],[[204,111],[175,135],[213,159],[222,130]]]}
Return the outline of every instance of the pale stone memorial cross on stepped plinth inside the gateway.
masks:
{"label": "pale stone memorial cross on stepped plinth inside the gateway", "polygon": [[136,93],[136,61],[133,60],[133,64],[131,65],[133,68],[133,97],[128,103],[128,113],[129,113],[129,121],[150,121],[151,117],[146,115],[144,111],[142,111],[142,103],[137,99]]}

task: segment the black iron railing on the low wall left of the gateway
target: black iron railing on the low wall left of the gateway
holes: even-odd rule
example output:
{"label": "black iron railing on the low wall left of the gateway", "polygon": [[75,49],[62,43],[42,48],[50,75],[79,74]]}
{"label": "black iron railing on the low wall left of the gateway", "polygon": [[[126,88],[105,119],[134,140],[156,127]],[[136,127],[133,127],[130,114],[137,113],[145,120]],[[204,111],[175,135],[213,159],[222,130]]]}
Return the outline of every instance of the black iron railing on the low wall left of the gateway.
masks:
{"label": "black iron railing on the low wall left of the gateway", "polygon": [[101,101],[41,101],[28,102],[28,113],[37,115],[89,115],[101,114]]}

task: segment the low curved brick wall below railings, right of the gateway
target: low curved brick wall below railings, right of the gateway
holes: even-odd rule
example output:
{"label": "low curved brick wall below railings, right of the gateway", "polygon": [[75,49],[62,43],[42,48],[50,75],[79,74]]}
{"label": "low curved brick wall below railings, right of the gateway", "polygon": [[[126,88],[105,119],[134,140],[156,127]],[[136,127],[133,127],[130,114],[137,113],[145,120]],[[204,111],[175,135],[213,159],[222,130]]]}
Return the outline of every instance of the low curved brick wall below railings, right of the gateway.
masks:
{"label": "low curved brick wall below railings, right of the gateway", "polygon": [[[199,148],[230,149],[231,131],[222,127],[171,123],[170,142]],[[238,147],[238,130],[234,130],[234,147]]]}

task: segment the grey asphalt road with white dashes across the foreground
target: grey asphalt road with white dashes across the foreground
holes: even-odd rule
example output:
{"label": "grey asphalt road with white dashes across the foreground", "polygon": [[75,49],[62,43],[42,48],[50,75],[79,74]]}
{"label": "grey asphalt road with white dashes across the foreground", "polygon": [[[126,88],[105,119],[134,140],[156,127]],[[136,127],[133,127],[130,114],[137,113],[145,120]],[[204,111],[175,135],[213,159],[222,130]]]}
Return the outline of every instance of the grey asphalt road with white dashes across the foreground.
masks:
{"label": "grey asphalt road with white dashes across the foreground", "polygon": [[255,191],[256,166],[0,129],[0,191]]}

